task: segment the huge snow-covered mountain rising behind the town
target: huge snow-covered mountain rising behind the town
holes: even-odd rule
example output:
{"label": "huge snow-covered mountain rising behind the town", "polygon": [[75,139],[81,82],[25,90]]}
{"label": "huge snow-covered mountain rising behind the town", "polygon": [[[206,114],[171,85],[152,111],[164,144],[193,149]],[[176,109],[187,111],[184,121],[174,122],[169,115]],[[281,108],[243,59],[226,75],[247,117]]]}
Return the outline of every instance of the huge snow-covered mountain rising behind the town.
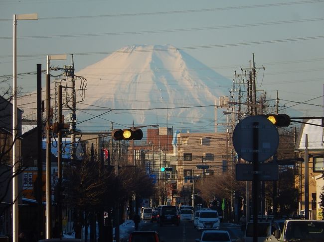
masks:
{"label": "huge snow-covered mountain rising behind the town", "polygon": [[87,80],[77,106],[82,130],[94,125],[108,130],[108,121],[129,127],[134,120],[135,126],[160,123],[214,132],[215,99],[228,95],[232,84],[172,45],[127,46],[76,75]]}

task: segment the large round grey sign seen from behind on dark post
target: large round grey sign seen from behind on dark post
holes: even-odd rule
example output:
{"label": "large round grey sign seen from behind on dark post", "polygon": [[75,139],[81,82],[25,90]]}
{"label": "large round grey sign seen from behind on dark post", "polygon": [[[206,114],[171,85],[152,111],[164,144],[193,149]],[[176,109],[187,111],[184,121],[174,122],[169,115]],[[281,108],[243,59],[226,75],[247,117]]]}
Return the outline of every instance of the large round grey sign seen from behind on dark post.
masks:
{"label": "large round grey sign seen from behind on dark post", "polygon": [[[258,127],[255,127],[258,123]],[[258,129],[258,150],[255,150],[253,130]],[[254,153],[258,153],[257,161],[265,161],[272,157],[279,146],[277,127],[263,115],[249,116],[242,119],[233,132],[233,146],[236,153],[245,161],[253,162]]]}

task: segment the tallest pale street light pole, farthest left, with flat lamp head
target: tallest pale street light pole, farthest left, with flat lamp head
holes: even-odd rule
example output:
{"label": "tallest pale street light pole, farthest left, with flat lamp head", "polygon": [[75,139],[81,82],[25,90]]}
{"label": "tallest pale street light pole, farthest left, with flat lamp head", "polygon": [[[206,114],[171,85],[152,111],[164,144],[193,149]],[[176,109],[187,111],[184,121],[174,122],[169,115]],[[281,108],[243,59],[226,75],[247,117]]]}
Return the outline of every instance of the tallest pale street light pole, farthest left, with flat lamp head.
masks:
{"label": "tallest pale street light pole, farthest left, with flat lamp head", "polygon": [[13,14],[13,75],[12,75],[12,242],[18,241],[18,177],[17,177],[17,151],[16,142],[18,134],[17,127],[17,43],[16,26],[17,20],[37,20],[37,13]]}

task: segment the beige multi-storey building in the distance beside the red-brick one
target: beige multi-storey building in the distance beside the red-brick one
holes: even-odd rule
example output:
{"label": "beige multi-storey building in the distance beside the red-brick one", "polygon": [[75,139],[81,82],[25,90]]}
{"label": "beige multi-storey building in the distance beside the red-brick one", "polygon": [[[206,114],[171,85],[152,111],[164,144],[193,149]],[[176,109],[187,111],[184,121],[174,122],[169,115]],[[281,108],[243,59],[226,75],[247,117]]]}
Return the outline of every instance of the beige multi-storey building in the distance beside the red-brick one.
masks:
{"label": "beige multi-storey building in the distance beside the red-brick one", "polygon": [[[193,179],[221,174],[231,165],[233,149],[228,133],[179,133],[176,135],[176,183],[178,197],[192,189]],[[191,198],[191,197],[190,197]],[[173,200],[175,200],[173,198]],[[187,201],[177,201],[187,203]]]}

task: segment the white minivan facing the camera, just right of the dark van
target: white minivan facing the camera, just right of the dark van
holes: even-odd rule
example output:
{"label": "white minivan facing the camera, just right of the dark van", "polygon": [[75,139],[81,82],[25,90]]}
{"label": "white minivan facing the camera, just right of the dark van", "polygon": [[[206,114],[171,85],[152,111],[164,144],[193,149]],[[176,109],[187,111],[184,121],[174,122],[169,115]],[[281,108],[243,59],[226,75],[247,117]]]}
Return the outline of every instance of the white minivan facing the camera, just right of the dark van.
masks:
{"label": "white minivan facing the camera, just right of the dark van", "polygon": [[219,230],[219,216],[216,210],[200,210],[197,230]]}

